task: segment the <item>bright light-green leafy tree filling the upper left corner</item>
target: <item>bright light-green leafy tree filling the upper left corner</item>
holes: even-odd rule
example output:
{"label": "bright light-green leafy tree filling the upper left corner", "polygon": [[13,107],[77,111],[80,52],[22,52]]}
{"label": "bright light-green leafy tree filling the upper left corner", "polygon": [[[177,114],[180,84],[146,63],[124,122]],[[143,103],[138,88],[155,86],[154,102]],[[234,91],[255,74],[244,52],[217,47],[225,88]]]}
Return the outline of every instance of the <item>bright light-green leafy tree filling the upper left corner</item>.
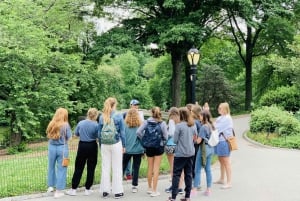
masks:
{"label": "bright light-green leafy tree filling the upper left corner", "polygon": [[[77,39],[84,29],[80,8],[87,1],[0,2],[1,116],[22,139],[45,133],[57,107],[70,116],[76,105],[76,72],[82,62]],[[62,9],[63,8],[63,9]]]}

